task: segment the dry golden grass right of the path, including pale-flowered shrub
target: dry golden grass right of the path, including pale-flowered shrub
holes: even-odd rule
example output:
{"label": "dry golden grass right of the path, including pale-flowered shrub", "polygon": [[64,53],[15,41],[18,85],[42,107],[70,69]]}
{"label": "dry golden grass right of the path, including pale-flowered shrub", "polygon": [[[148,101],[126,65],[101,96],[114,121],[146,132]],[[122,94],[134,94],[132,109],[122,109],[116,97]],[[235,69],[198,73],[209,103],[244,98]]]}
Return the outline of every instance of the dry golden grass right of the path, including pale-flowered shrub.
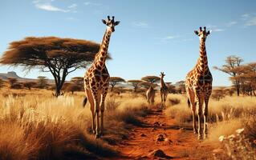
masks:
{"label": "dry golden grass right of the path, including pale-flowered shrub", "polygon": [[[175,118],[178,126],[192,126],[191,110],[187,106],[185,95],[169,95],[173,104],[165,114]],[[256,140],[256,98],[226,96],[209,102],[209,139],[205,143],[215,144],[221,148],[215,153],[217,159],[255,159]],[[236,130],[244,129],[242,134]],[[233,137],[235,135],[235,138]],[[225,141],[220,142],[220,137]]]}

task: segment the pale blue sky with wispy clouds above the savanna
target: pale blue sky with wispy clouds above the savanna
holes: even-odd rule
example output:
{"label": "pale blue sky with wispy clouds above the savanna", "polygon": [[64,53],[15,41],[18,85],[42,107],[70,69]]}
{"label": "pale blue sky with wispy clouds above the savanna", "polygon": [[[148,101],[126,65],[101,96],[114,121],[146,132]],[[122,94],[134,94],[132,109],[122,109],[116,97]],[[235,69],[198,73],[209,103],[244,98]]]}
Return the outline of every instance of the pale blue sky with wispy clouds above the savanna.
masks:
{"label": "pale blue sky with wispy clouds above the savanna", "polygon": [[[228,75],[213,70],[229,55],[256,61],[256,1],[216,0],[5,0],[0,2],[0,54],[8,44],[27,36],[57,36],[101,42],[102,18],[120,20],[112,34],[107,62],[111,76],[140,79],[166,74],[165,82],[177,82],[197,62],[199,40],[193,30],[206,26],[212,33],[206,40],[209,68],[214,86],[228,86]],[[20,67],[0,66],[0,72],[14,70],[19,76],[37,78],[51,74]],[[83,76],[77,70],[67,79]]]}

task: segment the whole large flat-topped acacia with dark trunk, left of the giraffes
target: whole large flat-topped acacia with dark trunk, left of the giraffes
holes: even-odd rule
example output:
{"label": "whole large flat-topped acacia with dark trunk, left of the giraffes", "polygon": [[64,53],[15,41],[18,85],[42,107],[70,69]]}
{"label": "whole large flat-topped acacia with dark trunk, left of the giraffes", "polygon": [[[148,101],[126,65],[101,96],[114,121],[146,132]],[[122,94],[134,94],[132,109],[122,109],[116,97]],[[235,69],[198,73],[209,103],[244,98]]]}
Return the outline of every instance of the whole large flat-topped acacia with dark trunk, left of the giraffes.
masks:
{"label": "whole large flat-topped acacia with dark trunk, left of the giraffes", "polygon": [[57,37],[27,37],[11,42],[0,63],[24,66],[25,70],[39,68],[50,72],[55,79],[55,96],[60,95],[67,74],[86,68],[100,49],[100,45],[85,40]]}

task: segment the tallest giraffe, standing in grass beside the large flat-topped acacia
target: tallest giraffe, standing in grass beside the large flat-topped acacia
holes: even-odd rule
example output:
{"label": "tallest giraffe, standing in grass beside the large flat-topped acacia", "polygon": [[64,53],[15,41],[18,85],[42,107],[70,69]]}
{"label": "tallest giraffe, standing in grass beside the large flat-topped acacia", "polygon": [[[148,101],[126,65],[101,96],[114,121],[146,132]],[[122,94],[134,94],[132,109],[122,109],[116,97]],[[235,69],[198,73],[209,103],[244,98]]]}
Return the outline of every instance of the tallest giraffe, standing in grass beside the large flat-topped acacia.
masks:
{"label": "tallest giraffe, standing in grass beside the large flat-topped acacia", "polygon": [[95,138],[100,138],[104,131],[104,101],[108,94],[109,85],[109,74],[105,62],[111,34],[115,31],[115,26],[120,23],[119,21],[115,22],[114,18],[114,16],[112,19],[108,16],[107,20],[102,20],[107,29],[100,45],[100,50],[95,54],[95,59],[83,78],[86,94],[83,106],[85,106],[88,100],[91,106],[92,132],[95,134]]}

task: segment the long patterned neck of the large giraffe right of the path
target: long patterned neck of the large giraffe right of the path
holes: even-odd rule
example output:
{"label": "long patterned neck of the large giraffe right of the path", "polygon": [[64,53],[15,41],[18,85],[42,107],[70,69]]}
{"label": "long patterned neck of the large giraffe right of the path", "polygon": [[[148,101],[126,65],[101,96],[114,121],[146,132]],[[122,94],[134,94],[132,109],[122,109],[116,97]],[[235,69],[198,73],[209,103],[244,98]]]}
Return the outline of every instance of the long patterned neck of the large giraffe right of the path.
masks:
{"label": "long patterned neck of the large giraffe right of the path", "polygon": [[204,72],[205,70],[208,70],[208,60],[207,60],[207,54],[206,54],[206,48],[205,48],[205,40],[200,40],[200,48],[199,48],[199,58],[197,60],[197,69]]}

